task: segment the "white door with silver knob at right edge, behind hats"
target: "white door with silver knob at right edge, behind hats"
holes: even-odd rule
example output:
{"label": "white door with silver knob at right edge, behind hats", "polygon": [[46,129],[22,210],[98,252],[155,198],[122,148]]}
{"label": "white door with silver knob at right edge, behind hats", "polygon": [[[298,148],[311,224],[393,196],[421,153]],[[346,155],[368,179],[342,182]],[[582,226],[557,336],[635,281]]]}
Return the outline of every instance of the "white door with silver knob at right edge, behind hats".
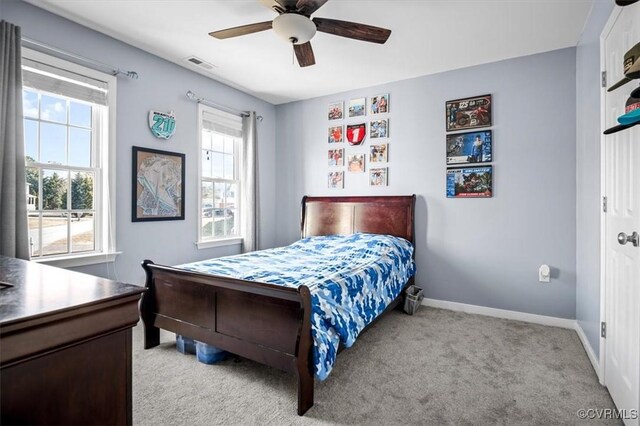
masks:
{"label": "white door with silver knob at right edge, behind hats", "polygon": [[[640,42],[640,3],[623,8],[604,39],[607,86],[619,81],[624,54]],[[606,93],[606,128],[624,114],[633,80]],[[605,385],[625,423],[638,425],[640,410],[640,126],[604,136],[605,144]],[[640,237],[639,237],[640,238]],[[640,245],[640,243],[639,243]],[[636,415],[634,415],[636,413]]]}

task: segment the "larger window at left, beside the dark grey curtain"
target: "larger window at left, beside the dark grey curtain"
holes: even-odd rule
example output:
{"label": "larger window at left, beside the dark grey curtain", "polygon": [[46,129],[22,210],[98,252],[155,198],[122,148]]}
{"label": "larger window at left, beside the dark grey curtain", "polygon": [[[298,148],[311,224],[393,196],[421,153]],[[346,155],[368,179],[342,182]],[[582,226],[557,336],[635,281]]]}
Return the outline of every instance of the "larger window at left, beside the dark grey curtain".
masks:
{"label": "larger window at left, beside the dark grey curtain", "polygon": [[22,68],[31,257],[112,260],[115,78],[28,49]]}

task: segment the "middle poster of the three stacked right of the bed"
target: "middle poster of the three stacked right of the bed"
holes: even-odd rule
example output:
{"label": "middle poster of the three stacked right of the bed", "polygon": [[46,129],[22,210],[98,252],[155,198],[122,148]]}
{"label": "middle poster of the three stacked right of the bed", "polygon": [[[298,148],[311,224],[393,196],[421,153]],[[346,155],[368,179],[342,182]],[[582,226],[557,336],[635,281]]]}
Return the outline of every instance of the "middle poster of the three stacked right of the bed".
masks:
{"label": "middle poster of the three stacked right of the bed", "polygon": [[447,135],[447,165],[493,161],[491,130]]}

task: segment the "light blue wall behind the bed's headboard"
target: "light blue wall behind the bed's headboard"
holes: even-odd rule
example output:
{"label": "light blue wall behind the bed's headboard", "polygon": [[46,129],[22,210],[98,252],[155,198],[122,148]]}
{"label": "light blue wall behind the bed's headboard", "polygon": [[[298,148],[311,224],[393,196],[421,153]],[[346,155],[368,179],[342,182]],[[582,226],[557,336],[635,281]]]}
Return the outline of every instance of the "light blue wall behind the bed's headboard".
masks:
{"label": "light blue wall behind the bed's headboard", "polygon": [[[415,193],[417,283],[426,297],[575,318],[575,54],[557,50],[278,106],[277,243],[298,238],[305,194]],[[380,93],[391,97],[389,187],[347,173],[344,190],[327,189],[327,104]],[[486,93],[494,197],[447,199],[445,101]],[[553,268],[550,284],[538,282],[543,263]]]}

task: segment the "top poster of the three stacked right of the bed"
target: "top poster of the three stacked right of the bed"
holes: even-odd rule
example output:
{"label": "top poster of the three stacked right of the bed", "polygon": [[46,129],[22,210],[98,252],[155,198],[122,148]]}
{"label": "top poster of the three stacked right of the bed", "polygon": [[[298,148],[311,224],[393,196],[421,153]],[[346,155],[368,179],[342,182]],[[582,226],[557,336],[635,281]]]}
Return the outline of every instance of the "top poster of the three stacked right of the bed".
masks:
{"label": "top poster of the three stacked right of the bed", "polygon": [[445,104],[447,132],[491,126],[491,95],[456,99]]}

